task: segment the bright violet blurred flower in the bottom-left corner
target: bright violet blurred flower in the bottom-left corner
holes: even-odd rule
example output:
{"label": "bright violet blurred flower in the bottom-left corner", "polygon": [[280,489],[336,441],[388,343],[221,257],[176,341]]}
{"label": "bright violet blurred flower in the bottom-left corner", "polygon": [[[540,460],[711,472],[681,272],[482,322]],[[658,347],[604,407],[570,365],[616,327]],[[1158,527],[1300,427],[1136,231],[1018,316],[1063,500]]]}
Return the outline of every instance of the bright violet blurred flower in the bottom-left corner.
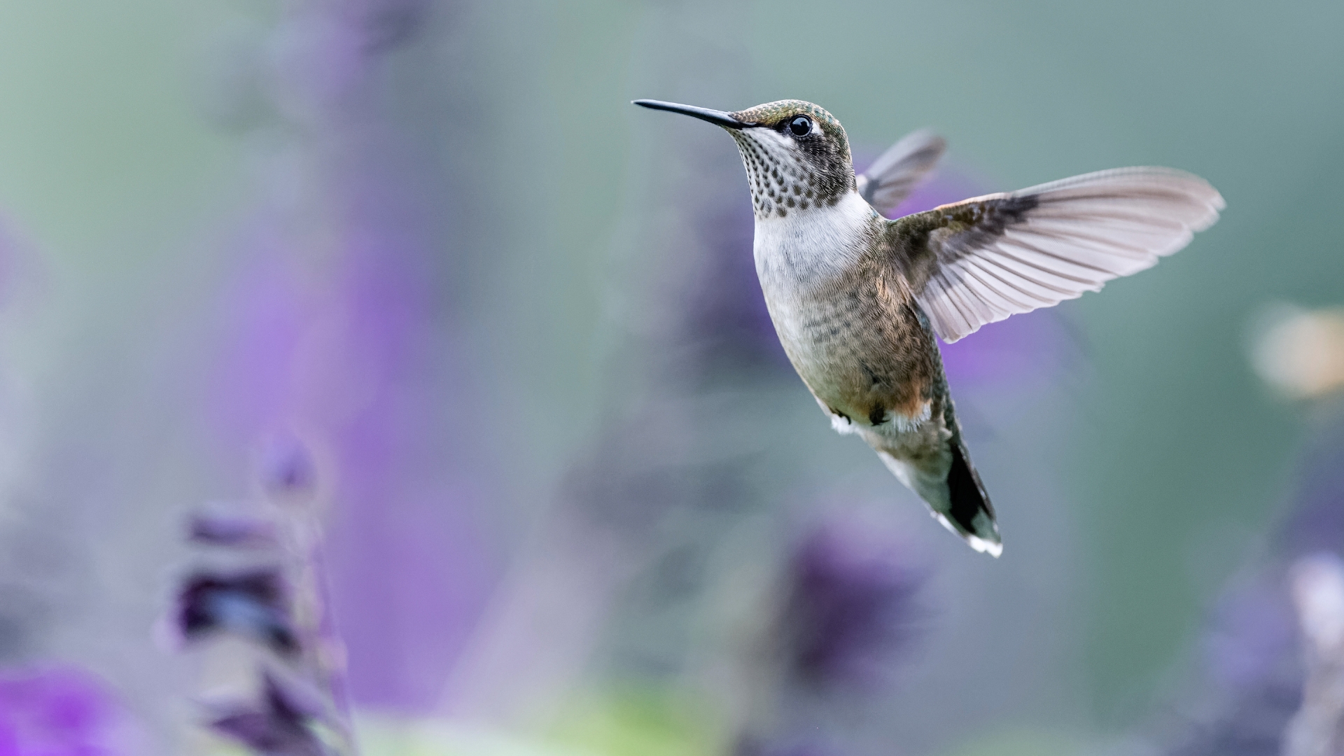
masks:
{"label": "bright violet blurred flower in the bottom-left corner", "polygon": [[56,667],[0,675],[0,756],[114,756],[125,714],[87,673]]}

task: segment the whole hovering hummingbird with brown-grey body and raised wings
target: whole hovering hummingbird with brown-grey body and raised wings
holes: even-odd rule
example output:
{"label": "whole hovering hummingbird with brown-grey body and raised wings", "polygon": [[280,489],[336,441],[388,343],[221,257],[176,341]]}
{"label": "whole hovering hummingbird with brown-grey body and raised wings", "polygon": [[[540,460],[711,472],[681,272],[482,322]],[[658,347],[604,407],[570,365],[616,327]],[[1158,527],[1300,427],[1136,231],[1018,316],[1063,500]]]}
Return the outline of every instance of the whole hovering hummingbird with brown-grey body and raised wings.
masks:
{"label": "whole hovering hummingbird with brown-grey body and raised wings", "polygon": [[937,338],[1051,307],[1157,264],[1218,221],[1223,198],[1172,168],[1116,168],[887,219],[943,151],[917,132],[855,175],[831,113],[802,100],[723,112],[634,105],[722,126],[755,215],[753,256],[784,351],[853,433],[977,552],[995,508],[970,463]]}

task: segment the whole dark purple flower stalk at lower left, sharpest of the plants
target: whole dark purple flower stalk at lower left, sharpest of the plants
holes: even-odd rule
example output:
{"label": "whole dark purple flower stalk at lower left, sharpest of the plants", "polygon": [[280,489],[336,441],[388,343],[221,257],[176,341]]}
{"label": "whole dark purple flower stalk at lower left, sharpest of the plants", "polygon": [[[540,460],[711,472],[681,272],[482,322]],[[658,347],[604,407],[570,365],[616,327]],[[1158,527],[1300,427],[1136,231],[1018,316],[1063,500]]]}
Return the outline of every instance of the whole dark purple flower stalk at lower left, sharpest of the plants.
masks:
{"label": "whole dark purple flower stalk at lower left, sharpest of the plants", "polygon": [[259,502],[191,517],[188,537],[202,553],[179,584],[169,632],[183,646],[231,635],[253,650],[259,690],[211,704],[210,729],[266,756],[352,756],[312,456],[285,441],[263,456]]}

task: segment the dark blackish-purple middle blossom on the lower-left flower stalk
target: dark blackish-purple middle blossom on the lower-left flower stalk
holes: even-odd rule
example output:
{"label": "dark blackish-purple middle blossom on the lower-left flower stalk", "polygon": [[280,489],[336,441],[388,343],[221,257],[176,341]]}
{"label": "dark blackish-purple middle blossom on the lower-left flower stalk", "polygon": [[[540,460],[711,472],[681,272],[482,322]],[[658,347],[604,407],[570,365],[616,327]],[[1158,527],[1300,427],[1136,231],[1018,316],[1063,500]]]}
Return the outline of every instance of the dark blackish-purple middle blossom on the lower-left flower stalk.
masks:
{"label": "dark blackish-purple middle blossom on the lower-left flower stalk", "polygon": [[280,654],[298,651],[285,609],[281,577],[270,569],[219,576],[198,573],[181,589],[177,623],[194,640],[216,631],[254,638]]}

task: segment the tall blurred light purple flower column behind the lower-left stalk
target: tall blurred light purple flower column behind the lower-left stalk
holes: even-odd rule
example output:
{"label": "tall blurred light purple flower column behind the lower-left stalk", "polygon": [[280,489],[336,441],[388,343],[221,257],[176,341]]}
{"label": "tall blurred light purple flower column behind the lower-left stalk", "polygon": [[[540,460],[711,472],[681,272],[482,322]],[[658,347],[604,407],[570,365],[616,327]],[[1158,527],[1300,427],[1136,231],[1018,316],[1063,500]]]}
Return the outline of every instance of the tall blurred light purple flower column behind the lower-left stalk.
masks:
{"label": "tall blurred light purple flower column behind the lower-left stalk", "polygon": [[438,702],[497,574],[480,492],[493,471],[472,463],[478,439],[464,430],[470,361],[446,346],[444,273],[464,254],[445,254],[442,219],[456,198],[387,97],[425,82],[388,55],[448,5],[286,4],[259,65],[300,136],[239,238],[204,402],[223,449],[286,428],[321,449],[319,469],[297,444],[267,447],[262,486],[281,500],[320,494],[319,632],[340,628],[355,701],[401,712]]}

